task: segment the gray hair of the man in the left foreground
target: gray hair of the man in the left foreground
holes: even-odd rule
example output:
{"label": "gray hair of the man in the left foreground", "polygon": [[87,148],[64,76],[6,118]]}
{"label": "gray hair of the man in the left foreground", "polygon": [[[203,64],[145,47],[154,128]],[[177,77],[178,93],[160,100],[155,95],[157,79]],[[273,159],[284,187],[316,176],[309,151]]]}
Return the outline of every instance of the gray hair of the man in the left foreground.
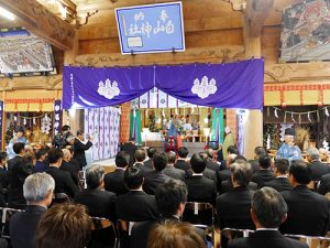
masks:
{"label": "gray hair of the man in the left foreground", "polygon": [[55,188],[55,181],[46,173],[35,173],[25,179],[23,195],[28,203],[38,203]]}

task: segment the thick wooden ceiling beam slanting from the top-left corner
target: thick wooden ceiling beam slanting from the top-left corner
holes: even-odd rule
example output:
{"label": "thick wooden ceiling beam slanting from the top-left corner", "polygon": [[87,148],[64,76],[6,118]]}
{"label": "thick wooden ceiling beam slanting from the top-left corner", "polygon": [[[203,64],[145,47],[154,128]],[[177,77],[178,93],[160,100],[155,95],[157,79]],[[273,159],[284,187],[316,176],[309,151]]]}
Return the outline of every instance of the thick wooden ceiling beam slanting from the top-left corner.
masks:
{"label": "thick wooden ceiling beam slanting from the top-left corner", "polygon": [[73,48],[75,29],[53,14],[36,0],[0,0],[0,6],[16,17],[16,23],[56,47]]}

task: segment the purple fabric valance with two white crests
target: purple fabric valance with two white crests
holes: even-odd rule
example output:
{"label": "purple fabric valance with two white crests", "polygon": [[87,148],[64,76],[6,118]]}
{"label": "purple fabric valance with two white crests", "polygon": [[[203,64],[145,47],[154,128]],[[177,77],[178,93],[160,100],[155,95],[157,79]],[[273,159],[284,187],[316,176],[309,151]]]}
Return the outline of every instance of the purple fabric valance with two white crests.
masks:
{"label": "purple fabric valance with two white crests", "polygon": [[63,107],[130,101],[153,87],[180,100],[218,108],[263,108],[264,61],[141,67],[64,67]]}

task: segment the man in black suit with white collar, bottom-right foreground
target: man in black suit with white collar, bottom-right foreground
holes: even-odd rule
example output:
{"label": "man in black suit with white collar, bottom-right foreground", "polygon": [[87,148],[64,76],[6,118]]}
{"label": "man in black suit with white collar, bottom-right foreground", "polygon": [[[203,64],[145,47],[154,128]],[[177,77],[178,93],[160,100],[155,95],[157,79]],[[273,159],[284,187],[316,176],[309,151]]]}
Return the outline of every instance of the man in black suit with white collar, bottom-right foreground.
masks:
{"label": "man in black suit with white collar, bottom-right foreground", "polygon": [[228,248],[308,248],[307,244],[287,238],[278,231],[285,222],[287,205],[280,194],[271,187],[256,191],[252,197],[251,217],[256,231],[248,238],[237,238]]}

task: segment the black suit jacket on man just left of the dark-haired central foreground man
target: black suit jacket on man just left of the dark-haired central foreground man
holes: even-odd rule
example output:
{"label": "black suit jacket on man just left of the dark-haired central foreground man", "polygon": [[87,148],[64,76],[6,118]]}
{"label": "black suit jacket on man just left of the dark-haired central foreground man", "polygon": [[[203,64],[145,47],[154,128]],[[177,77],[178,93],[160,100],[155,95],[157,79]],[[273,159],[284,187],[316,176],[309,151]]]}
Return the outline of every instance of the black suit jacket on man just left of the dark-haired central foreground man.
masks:
{"label": "black suit jacket on man just left of the dark-haired central foreground man", "polygon": [[119,219],[127,222],[144,222],[158,218],[155,196],[143,191],[130,191],[116,200]]}

